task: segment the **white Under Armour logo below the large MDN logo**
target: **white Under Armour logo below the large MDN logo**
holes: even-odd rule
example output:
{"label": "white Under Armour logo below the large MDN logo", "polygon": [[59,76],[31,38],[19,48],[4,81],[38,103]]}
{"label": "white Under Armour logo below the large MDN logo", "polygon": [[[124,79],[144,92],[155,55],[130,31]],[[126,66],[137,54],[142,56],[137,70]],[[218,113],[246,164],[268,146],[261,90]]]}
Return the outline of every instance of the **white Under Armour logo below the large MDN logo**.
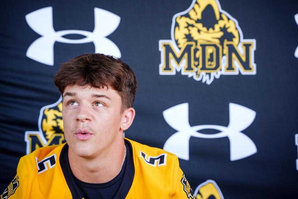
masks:
{"label": "white Under Armour logo below the large MDN logo", "polygon": [[[228,127],[219,125],[198,125],[191,127],[188,122],[188,103],[178,104],[163,112],[165,121],[178,132],[165,142],[164,150],[174,153],[178,158],[189,160],[189,139],[228,137],[230,141],[230,160],[240,160],[257,152],[255,143],[241,131],[251,125],[255,111],[239,104],[229,104],[230,122]],[[216,129],[216,134],[204,134],[198,131]]]}

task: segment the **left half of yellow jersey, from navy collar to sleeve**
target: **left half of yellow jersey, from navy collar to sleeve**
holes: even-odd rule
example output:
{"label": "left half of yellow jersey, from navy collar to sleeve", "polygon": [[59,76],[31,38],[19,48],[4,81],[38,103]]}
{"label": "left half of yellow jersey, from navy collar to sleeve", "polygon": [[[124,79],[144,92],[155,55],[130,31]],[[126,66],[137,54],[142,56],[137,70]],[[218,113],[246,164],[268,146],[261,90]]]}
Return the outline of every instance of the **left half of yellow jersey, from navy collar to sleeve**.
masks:
{"label": "left half of yellow jersey, from navy collar to sleeve", "polygon": [[21,157],[16,176],[1,197],[14,199],[71,196],[59,163],[65,144],[41,147]]}

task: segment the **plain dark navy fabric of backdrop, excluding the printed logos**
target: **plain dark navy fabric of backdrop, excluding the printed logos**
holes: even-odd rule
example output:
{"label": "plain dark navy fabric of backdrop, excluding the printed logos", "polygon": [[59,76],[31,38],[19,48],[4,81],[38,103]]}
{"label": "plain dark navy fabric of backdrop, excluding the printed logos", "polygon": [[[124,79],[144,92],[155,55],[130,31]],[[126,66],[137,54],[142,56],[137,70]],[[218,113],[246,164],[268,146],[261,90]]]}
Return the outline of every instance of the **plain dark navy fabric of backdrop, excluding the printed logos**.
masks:
{"label": "plain dark navy fabric of backdrop, excluding the printed logos", "polygon": [[[121,51],[121,59],[136,74],[136,118],[126,131],[129,139],[162,148],[176,131],[163,118],[165,109],[189,103],[191,126],[227,126],[229,103],[256,112],[255,121],[243,131],[258,152],[230,161],[229,140],[190,138],[190,159],[179,160],[194,190],[214,180],[229,198],[296,198],[298,133],[297,1],[220,0],[221,7],[239,22],[244,39],[255,39],[256,75],[225,75],[210,85],[177,72],[159,75],[158,41],[171,39],[173,16],[186,10],[187,1],[5,1],[0,7],[0,190],[16,174],[26,153],[25,131],[38,131],[39,111],[55,103],[60,93],[53,76],[61,62],[94,53],[94,44],[54,45],[54,66],[26,57],[29,45],[40,37],[25,15],[53,7],[53,24],[59,30],[94,29],[94,7],[121,17],[118,28],[107,38]],[[66,36],[65,36],[66,37]],[[79,39],[69,35],[69,39]],[[214,132],[210,132],[214,133]]]}

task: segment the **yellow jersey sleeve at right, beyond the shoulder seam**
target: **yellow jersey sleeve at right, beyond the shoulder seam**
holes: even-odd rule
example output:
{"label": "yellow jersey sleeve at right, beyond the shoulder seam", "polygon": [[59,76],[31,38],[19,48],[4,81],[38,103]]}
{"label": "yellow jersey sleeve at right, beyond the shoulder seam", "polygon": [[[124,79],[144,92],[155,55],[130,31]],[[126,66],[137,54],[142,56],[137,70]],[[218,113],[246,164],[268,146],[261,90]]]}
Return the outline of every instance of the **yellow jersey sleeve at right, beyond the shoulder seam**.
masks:
{"label": "yellow jersey sleeve at right, beyond the shoulder seam", "polygon": [[183,174],[183,171],[179,167],[179,161],[177,157],[173,172],[173,194],[171,198],[194,198],[192,188]]}

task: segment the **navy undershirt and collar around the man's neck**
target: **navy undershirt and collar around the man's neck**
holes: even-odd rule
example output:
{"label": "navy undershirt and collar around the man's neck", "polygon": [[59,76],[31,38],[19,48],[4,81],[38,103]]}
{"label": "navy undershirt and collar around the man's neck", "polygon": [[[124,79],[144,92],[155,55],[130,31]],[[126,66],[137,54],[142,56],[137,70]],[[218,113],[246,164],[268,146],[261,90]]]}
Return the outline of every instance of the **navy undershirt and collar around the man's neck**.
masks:
{"label": "navy undershirt and collar around the man's neck", "polygon": [[124,143],[126,146],[126,157],[121,171],[115,178],[106,183],[86,183],[76,178],[71,172],[68,161],[68,145],[66,144],[63,147],[60,164],[73,198],[125,198],[133,181],[134,167],[131,145],[126,140]]}

